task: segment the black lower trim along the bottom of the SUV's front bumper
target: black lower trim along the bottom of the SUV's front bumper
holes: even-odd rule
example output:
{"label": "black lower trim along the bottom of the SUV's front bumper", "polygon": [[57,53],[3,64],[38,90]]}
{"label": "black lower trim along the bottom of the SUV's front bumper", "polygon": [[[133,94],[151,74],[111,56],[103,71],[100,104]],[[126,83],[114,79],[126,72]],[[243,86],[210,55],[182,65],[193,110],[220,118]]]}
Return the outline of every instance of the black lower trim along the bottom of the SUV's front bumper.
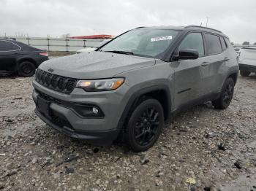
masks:
{"label": "black lower trim along the bottom of the SUV's front bumper", "polygon": [[77,132],[75,130],[68,130],[66,128],[61,128],[55,125],[53,122],[50,122],[48,118],[43,116],[37,109],[34,109],[34,112],[37,116],[44,121],[46,124],[50,125],[50,127],[58,130],[61,133],[64,133],[67,136],[70,136],[75,139],[83,139],[89,141],[92,144],[100,144],[107,145],[111,144],[114,140],[116,140],[119,130],[100,130],[100,131],[87,131],[87,132]]}

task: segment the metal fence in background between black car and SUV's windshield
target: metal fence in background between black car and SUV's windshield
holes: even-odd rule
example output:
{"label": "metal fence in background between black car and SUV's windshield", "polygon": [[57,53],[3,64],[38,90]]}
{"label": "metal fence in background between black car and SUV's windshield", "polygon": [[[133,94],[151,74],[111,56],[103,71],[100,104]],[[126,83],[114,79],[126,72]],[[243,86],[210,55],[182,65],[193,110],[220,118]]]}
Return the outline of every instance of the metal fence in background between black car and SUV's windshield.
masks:
{"label": "metal fence in background between black car and SUV's windshield", "polygon": [[42,50],[60,51],[60,52],[74,52],[76,50],[94,47],[102,42],[103,39],[69,39],[69,38],[40,38],[40,37],[1,37],[15,39],[18,42],[29,44]]}

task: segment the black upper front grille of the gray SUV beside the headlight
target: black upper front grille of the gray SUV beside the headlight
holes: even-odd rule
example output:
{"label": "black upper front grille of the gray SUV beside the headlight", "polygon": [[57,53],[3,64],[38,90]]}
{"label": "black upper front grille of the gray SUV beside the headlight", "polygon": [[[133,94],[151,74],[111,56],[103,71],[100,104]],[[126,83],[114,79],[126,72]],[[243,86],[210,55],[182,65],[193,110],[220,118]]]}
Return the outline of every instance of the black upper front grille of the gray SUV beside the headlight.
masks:
{"label": "black upper front grille of the gray SUV beside the headlight", "polygon": [[61,77],[56,74],[50,74],[46,71],[37,69],[35,74],[35,80],[45,87],[51,90],[56,90],[61,93],[69,94],[74,90],[77,79],[68,77]]}

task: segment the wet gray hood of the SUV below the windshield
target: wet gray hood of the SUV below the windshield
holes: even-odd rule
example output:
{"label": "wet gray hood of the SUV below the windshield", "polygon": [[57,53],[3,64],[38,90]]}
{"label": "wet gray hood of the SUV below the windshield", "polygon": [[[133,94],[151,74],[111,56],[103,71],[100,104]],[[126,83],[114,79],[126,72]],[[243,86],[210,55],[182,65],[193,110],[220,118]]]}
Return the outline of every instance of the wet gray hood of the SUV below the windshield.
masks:
{"label": "wet gray hood of the SUV below the windshield", "polygon": [[86,52],[50,59],[42,63],[39,69],[64,77],[98,79],[154,64],[154,58],[112,52]]}

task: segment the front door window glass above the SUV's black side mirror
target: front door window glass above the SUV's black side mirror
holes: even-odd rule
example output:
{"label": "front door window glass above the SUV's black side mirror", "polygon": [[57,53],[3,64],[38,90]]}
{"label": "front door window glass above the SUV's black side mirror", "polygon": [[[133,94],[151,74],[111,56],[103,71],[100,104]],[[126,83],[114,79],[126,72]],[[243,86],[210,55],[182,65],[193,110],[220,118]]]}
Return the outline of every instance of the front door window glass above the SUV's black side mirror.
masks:
{"label": "front door window glass above the SUV's black side mirror", "polygon": [[195,49],[197,50],[199,57],[204,55],[203,37],[200,33],[188,34],[185,39],[181,42],[178,50],[182,49]]}

